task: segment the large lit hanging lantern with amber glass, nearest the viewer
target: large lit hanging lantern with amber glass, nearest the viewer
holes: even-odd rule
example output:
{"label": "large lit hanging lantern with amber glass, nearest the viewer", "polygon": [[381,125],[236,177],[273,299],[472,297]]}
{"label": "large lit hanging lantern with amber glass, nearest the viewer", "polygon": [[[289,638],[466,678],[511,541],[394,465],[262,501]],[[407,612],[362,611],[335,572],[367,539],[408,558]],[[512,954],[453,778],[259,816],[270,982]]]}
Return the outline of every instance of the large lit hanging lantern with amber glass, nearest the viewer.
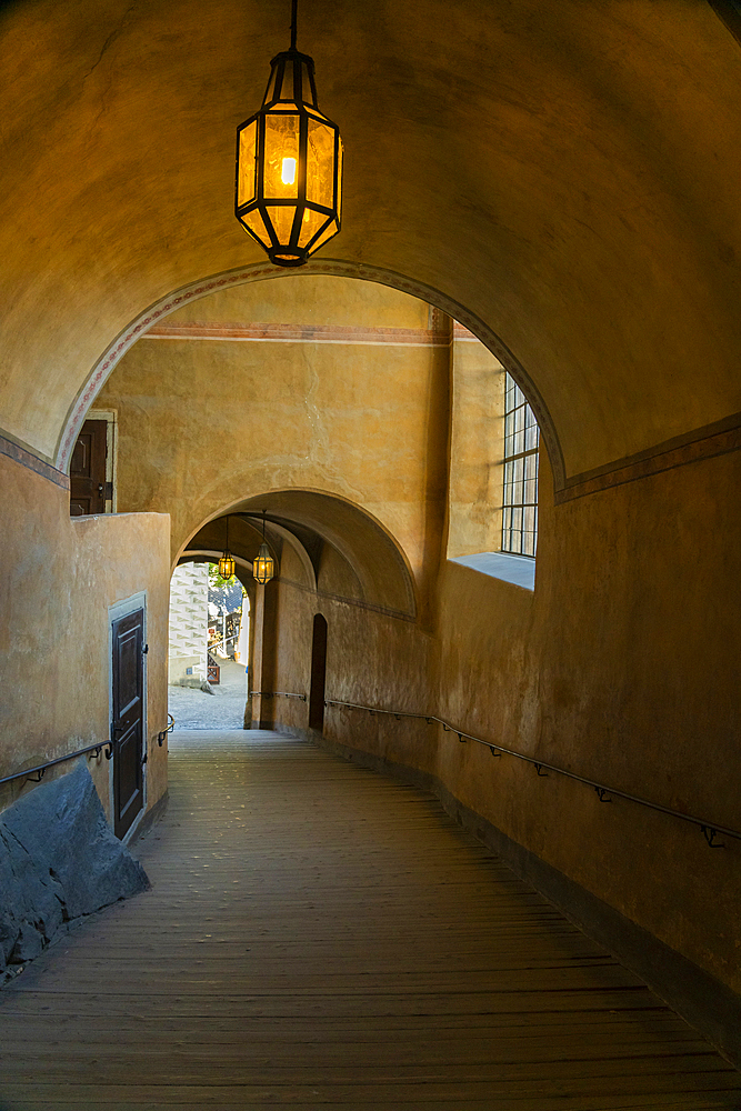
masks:
{"label": "large lit hanging lantern with amber glass, nearest the viewer", "polygon": [[342,140],[317,108],[314,63],[276,54],[262,108],[237,130],[234,213],[279,267],[300,267],[340,230]]}

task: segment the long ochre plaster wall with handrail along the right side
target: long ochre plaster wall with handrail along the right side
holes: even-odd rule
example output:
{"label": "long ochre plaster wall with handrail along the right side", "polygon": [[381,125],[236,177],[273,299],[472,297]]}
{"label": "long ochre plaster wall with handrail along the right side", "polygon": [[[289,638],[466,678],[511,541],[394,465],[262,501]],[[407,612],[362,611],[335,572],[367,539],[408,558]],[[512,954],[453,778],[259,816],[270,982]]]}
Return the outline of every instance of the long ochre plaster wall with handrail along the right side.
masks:
{"label": "long ochre plaster wall with handrail along the right side", "polygon": [[[557,508],[541,466],[534,593],[443,563],[428,638],[283,589],[278,689],[308,690],[316,607],[329,623],[328,698],[438,713],[739,829],[739,453]],[[722,530],[730,542],[719,550],[707,540]],[[277,710],[306,728],[303,703],[281,700]],[[328,709],[324,733],[438,777],[514,841],[741,990],[740,843],[711,851],[697,827],[627,801],[602,804],[582,784],[494,760],[439,727]]]}

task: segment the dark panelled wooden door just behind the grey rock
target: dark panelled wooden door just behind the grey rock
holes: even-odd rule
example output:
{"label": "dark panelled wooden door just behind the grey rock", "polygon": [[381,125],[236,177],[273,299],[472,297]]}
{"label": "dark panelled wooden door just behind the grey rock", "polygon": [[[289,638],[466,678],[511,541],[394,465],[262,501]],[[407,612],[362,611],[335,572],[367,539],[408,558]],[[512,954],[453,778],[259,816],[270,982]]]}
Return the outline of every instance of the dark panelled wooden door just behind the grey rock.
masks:
{"label": "dark panelled wooden door just behind the grey rock", "polygon": [[141,810],[143,792],[144,611],[113,622],[113,832],[122,838]]}

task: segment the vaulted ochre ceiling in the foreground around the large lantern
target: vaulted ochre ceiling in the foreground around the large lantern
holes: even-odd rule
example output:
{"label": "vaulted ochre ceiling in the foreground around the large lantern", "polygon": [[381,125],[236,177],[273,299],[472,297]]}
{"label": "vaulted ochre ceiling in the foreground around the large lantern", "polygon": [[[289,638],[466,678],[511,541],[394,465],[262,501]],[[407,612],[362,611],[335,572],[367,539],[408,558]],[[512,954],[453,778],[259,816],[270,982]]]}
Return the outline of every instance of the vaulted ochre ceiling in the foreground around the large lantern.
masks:
{"label": "vaulted ochre ceiling in the foreground around the large lantern", "polygon": [[[0,426],[52,460],[112,339],[261,262],[233,137],[288,0],[0,14]],[[705,0],[306,0],[346,143],[327,250],[439,290],[525,368],[575,474],[741,411],[741,49]]]}

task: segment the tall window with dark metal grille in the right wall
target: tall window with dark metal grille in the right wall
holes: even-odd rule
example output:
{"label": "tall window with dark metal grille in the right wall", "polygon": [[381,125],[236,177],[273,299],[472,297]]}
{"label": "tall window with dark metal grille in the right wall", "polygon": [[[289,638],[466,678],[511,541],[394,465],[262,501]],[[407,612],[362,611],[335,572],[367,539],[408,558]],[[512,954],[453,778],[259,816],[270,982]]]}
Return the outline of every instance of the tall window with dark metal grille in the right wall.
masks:
{"label": "tall window with dark metal grille in the right wall", "polygon": [[524,393],[504,381],[504,499],[502,551],[535,554],[538,546],[538,444],[540,429]]}

